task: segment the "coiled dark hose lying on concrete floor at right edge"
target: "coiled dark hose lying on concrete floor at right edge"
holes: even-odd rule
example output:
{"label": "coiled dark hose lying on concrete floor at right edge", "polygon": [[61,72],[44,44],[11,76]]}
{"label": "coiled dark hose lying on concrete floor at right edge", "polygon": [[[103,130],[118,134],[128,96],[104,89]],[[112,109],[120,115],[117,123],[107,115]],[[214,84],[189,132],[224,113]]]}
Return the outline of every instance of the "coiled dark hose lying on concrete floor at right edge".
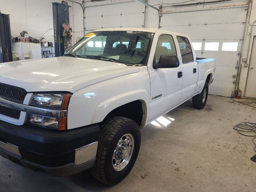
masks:
{"label": "coiled dark hose lying on concrete floor at right edge", "polygon": [[[242,123],[239,123],[239,124],[235,125],[233,127],[233,129],[235,129],[241,135],[248,136],[248,137],[253,137],[252,138],[252,142],[254,144],[253,149],[256,152],[256,141],[255,141],[255,138],[256,138],[256,123],[242,122]],[[251,134],[248,135],[248,133],[251,133]]]}

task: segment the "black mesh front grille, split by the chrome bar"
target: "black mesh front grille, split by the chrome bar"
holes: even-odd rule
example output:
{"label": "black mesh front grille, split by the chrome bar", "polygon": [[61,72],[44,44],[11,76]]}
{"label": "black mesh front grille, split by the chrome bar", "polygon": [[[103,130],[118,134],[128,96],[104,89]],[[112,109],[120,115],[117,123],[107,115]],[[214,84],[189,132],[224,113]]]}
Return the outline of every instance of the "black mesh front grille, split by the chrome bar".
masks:
{"label": "black mesh front grille, split by the chrome bar", "polygon": [[[25,89],[0,83],[0,97],[15,103],[23,103],[27,92]],[[0,114],[14,119],[20,118],[20,111],[0,106]]]}

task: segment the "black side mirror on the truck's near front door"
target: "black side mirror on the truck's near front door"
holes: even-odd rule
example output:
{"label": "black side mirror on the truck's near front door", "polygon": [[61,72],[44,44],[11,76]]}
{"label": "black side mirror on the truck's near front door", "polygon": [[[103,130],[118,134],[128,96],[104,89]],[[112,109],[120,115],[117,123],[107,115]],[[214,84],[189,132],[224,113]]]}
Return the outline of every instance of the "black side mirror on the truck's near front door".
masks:
{"label": "black side mirror on the truck's near front door", "polygon": [[159,61],[153,65],[153,68],[176,68],[179,66],[180,61],[176,55],[161,55]]}

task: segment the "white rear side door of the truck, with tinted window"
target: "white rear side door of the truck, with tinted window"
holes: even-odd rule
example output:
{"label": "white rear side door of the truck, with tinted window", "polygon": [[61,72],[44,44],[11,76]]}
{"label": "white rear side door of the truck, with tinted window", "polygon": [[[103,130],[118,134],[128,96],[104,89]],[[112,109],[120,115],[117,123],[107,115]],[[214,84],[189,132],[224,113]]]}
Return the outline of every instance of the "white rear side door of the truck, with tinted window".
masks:
{"label": "white rear side door of the truck, with tinted window", "polygon": [[191,44],[187,37],[177,36],[180,47],[183,83],[181,88],[180,103],[189,99],[196,92],[198,78],[198,64],[194,58]]}

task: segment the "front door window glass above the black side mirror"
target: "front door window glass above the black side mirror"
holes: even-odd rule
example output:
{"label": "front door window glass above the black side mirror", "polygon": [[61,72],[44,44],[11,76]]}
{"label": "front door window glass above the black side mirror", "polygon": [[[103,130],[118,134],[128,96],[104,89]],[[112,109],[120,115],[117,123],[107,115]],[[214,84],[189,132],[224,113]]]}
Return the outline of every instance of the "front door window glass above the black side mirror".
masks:
{"label": "front door window glass above the black side mirror", "polygon": [[175,44],[171,35],[159,36],[156,44],[156,62],[159,61],[161,55],[177,55]]}

